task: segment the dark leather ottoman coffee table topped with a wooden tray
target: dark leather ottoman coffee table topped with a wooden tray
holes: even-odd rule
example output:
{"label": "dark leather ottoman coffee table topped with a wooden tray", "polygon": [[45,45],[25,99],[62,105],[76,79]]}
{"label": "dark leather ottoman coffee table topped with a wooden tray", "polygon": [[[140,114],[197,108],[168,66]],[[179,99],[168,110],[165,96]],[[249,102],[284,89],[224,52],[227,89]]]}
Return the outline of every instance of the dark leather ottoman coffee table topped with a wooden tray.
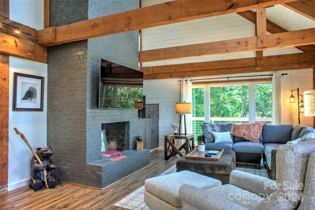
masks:
{"label": "dark leather ottoman coffee table topped with a wooden tray", "polygon": [[[208,150],[217,149],[206,149],[205,152],[199,152],[195,149],[181,157],[181,159],[176,162],[177,171],[188,170],[220,180],[222,184],[229,183],[230,173],[235,169],[235,152],[224,150],[220,160],[215,159],[215,161],[211,161],[204,158]],[[198,154],[200,158],[196,158]],[[187,156],[189,156],[189,159]],[[215,155],[213,157],[215,157]]]}

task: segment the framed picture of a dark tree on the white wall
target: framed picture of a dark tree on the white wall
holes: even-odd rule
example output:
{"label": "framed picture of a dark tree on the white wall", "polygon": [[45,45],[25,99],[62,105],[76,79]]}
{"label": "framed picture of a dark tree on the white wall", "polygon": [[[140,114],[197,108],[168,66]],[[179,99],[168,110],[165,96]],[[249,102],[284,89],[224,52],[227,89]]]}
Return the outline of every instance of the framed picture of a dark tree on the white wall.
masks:
{"label": "framed picture of a dark tree on the white wall", "polygon": [[44,77],[14,72],[13,111],[43,111]]}

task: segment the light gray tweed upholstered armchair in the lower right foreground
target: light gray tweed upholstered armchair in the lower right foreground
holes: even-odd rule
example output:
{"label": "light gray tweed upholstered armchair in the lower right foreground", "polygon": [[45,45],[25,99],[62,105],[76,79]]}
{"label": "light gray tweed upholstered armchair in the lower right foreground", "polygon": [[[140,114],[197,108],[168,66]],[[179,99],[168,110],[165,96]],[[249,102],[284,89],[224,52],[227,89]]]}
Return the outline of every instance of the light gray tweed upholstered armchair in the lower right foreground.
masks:
{"label": "light gray tweed upholstered armchair in the lower right foreground", "polygon": [[276,181],[234,170],[229,184],[207,189],[184,184],[183,210],[314,210],[315,139],[279,146],[276,164]]}

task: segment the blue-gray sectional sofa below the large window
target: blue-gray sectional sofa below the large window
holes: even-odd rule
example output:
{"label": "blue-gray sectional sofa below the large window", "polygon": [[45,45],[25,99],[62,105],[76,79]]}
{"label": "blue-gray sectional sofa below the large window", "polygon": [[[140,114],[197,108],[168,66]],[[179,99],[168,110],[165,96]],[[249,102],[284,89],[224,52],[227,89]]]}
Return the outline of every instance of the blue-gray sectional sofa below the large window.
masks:
{"label": "blue-gray sectional sofa below the large window", "polygon": [[[204,123],[211,124],[211,123]],[[214,124],[212,124],[214,125]],[[220,132],[227,132],[231,130],[232,123],[216,123],[215,126],[220,126]],[[201,124],[204,128],[204,125]],[[286,144],[289,141],[302,138],[306,134],[315,132],[314,128],[297,125],[263,125],[259,142],[251,142],[244,138],[232,136],[232,142],[206,141],[206,148],[216,148],[224,150],[232,150],[236,154],[236,162],[253,163],[256,168],[260,169],[261,157],[267,165],[269,177],[275,180],[276,174],[276,150],[280,145]],[[205,140],[205,136],[199,135],[198,141]]]}

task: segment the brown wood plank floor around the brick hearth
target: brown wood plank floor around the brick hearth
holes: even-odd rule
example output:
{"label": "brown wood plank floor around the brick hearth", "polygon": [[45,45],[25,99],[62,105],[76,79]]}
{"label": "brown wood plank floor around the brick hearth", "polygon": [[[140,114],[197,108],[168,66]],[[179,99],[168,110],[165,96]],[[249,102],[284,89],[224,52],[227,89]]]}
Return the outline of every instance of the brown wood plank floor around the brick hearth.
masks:
{"label": "brown wood plank floor around the brick hearth", "polygon": [[122,210],[113,205],[176,163],[178,155],[164,160],[164,151],[154,150],[150,165],[103,190],[58,182],[56,188],[33,191],[28,186],[0,193],[0,210]]}

